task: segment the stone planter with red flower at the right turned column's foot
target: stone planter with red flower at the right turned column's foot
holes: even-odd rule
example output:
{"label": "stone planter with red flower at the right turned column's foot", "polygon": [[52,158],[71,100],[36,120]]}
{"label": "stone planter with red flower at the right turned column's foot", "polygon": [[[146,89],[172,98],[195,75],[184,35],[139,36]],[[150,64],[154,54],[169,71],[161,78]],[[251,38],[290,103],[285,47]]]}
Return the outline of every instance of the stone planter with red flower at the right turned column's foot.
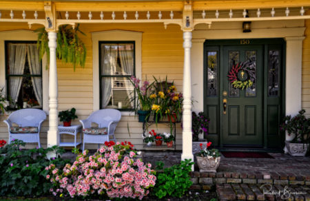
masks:
{"label": "stone planter with red flower at the right turned column's foot", "polygon": [[216,172],[220,165],[220,152],[218,149],[209,149],[212,142],[204,146],[200,143],[200,151],[196,153],[196,159],[200,172]]}

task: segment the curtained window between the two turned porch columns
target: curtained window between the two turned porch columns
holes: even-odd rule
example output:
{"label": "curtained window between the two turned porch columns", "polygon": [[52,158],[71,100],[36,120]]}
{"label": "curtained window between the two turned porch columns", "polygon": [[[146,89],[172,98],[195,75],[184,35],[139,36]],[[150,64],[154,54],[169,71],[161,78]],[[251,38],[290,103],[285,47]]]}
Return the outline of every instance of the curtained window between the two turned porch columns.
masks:
{"label": "curtained window between the two turned porch columns", "polygon": [[100,108],[134,109],[134,41],[99,42]]}

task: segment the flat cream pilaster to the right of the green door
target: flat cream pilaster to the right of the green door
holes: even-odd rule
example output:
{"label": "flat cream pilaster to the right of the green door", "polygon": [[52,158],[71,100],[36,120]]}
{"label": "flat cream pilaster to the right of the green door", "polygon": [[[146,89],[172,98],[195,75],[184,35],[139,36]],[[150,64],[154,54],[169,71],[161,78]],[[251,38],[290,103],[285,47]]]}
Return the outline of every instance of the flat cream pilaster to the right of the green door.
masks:
{"label": "flat cream pilaster to the right of the green door", "polygon": [[[302,109],[302,41],[304,36],[286,37],[285,115],[295,116]],[[285,136],[292,140],[293,135]]]}

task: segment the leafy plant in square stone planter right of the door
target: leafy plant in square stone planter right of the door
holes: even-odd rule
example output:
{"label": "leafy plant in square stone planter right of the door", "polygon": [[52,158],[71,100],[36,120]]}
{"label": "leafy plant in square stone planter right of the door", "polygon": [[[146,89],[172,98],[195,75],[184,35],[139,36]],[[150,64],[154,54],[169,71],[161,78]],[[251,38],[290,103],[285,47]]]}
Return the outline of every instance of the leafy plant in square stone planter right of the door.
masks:
{"label": "leafy plant in square stone planter right of the door", "polygon": [[285,116],[280,129],[287,131],[293,140],[285,141],[285,147],[291,156],[306,156],[310,147],[310,118],[306,118],[304,109],[296,116]]}

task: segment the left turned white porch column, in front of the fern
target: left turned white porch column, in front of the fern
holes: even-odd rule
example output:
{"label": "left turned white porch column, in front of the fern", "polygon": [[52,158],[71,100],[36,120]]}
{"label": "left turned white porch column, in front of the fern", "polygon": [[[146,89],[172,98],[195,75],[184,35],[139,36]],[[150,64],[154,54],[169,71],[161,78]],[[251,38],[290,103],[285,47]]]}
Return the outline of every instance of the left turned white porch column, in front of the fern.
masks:
{"label": "left turned white porch column, in front of the fern", "polygon": [[48,32],[48,47],[50,47],[50,83],[49,83],[49,129],[48,147],[59,145],[58,135],[58,84],[56,67],[56,32]]}

